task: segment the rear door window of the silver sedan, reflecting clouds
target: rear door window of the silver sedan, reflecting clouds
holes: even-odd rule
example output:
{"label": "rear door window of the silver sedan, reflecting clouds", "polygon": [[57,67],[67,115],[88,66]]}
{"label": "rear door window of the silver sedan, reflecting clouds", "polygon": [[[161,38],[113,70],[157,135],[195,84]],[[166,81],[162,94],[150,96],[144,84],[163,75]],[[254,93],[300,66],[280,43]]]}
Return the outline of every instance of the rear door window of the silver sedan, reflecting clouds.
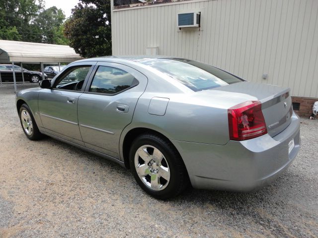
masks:
{"label": "rear door window of the silver sedan, reflecting clouds", "polygon": [[99,66],[89,87],[89,92],[115,94],[137,84],[137,79],[122,69]]}

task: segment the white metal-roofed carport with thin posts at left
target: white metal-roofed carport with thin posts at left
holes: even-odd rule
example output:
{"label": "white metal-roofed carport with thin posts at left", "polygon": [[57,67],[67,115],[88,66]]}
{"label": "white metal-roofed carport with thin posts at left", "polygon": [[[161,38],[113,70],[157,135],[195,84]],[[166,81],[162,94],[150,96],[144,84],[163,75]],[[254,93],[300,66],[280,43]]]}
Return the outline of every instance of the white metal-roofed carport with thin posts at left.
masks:
{"label": "white metal-roofed carport with thin posts at left", "polygon": [[[42,79],[44,79],[44,63],[60,65],[60,62],[80,59],[82,58],[69,46],[0,40],[0,63],[12,63],[14,92],[16,92],[14,63],[20,63],[24,83],[22,63],[41,64]],[[0,84],[2,84],[1,72]]]}

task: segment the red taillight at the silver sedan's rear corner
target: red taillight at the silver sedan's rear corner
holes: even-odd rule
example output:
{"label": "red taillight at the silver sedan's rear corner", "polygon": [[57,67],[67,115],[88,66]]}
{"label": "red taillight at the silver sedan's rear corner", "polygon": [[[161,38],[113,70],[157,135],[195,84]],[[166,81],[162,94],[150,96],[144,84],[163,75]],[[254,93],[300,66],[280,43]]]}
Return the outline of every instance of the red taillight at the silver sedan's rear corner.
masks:
{"label": "red taillight at the silver sedan's rear corner", "polygon": [[262,106],[247,101],[228,109],[231,140],[247,140],[267,133]]}

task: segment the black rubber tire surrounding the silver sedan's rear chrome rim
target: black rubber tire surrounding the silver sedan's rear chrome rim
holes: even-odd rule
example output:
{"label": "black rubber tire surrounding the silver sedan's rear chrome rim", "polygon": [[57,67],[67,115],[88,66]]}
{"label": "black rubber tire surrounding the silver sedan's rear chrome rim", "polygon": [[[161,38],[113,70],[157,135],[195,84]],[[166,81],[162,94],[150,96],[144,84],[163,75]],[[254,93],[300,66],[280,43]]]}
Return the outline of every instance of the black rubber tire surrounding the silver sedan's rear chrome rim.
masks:
{"label": "black rubber tire surrounding the silver sedan's rear chrome rim", "polygon": [[[165,187],[162,190],[154,190],[151,187],[147,186],[136,171],[136,166],[135,166],[136,152],[138,149],[146,145],[150,145],[152,147],[157,148],[159,152],[161,152],[161,154],[164,156],[164,163],[168,165],[170,177],[169,177],[169,181],[167,182],[167,185],[165,185]],[[151,152],[149,154],[151,154]],[[139,158],[138,160],[141,159],[139,155],[138,155],[138,158]],[[184,191],[189,184],[188,174],[179,153],[177,152],[177,150],[175,149],[175,147],[171,144],[169,140],[162,138],[161,136],[154,135],[154,134],[144,134],[137,137],[133,141],[132,146],[130,148],[129,163],[130,163],[131,171],[137,183],[141,186],[141,188],[144,191],[146,191],[148,194],[152,195],[153,197],[157,199],[168,199],[168,198],[175,197],[179,195],[182,191]],[[146,166],[146,162],[144,163],[144,165]],[[149,164],[146,167],[148,166]],[[160,179],[161,178],[159,178],[159,181],[161,181]],[[163,181],[164,180],[165,179],[163,179]]]}

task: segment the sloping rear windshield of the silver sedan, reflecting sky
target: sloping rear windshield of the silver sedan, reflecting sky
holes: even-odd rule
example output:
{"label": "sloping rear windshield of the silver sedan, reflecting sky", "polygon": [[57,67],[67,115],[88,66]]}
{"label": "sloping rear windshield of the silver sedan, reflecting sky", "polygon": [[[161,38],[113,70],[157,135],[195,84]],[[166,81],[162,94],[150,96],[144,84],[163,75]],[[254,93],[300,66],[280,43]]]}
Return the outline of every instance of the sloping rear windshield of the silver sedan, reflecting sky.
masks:
{"label": "sloping rear windshield of the silver sedan, reflecting sky", "polygon": [[195,92],[243,81],[219,68],[194,60],[157,58],[143,60],[140,63],[167,74]]}

